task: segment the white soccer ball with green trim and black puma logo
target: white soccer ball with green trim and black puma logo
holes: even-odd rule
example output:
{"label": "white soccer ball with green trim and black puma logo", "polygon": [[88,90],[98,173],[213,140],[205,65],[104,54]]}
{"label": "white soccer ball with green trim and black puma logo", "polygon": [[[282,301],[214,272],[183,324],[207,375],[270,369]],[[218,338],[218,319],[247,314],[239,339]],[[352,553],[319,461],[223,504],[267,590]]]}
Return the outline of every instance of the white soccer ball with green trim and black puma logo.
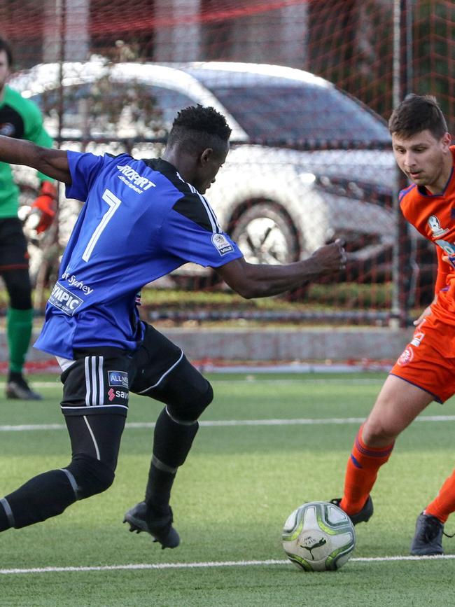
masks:
{"label": "white soccer ball with green trim and black puma logo", "polygon": [[335,571],[351,557],[356,532],[341,508],[328,502],[311,501],[288,516],[282,539],[284,552],[297,568]]}

